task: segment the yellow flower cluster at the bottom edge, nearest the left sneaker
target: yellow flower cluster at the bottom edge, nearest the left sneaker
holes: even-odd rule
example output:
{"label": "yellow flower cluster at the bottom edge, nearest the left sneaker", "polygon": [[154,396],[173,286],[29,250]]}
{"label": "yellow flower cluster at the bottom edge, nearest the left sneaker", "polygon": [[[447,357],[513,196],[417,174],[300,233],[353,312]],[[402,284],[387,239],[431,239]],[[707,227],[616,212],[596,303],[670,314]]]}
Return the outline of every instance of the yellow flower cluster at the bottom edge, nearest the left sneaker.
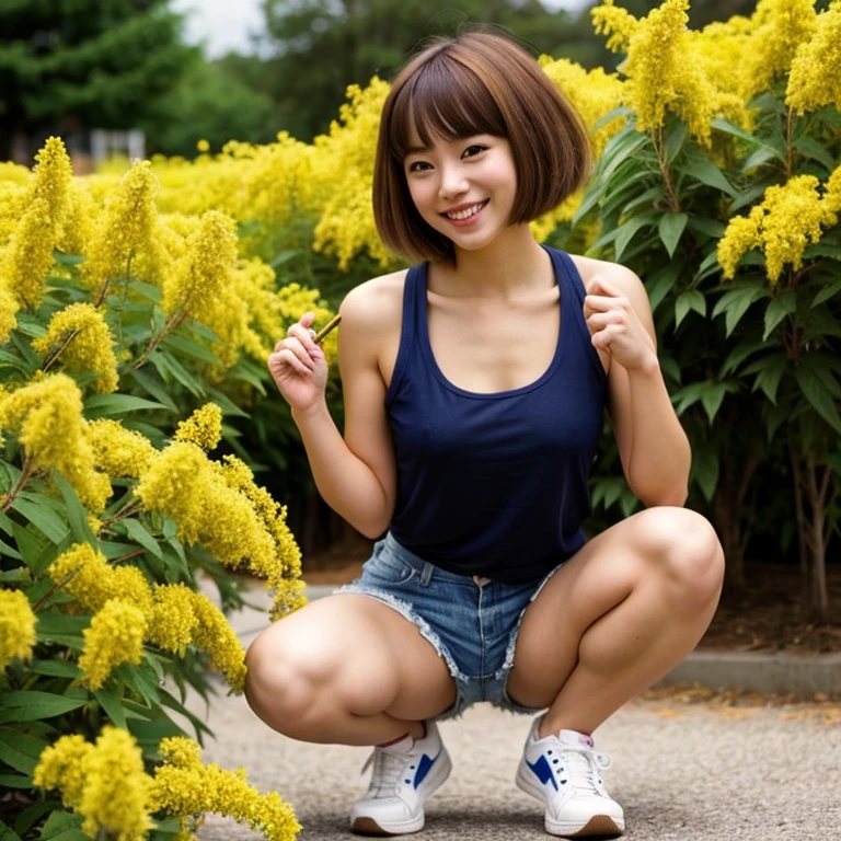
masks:
{"label": "yellow flower cluster at the bottom edge, nearest the left sneaker", "polygon": [[164,764],[155,769],[154,806],[174,815],[212,811],[247,823],[269,841],[290,841],[301,827],[289,804],[276,792],[262,795],[249,785],[243,769],[203,765],[192,739],[164,739]]}

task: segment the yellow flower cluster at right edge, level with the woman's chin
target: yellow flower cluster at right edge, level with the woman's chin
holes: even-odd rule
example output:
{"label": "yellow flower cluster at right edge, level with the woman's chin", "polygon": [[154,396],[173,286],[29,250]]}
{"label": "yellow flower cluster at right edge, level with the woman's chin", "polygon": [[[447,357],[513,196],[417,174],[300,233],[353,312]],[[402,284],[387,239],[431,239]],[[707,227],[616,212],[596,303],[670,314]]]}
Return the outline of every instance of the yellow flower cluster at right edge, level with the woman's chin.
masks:
{"label": "yellow flower cluster at right edge, level with the woman's chin", "polygon": [[750,249],[763,251],[772,284],[780,279],[786,263],[798,270],[806,245],[820,240],[822,227],[838,222],[841,166],[832,173],[823,196],[818,193],[818,184],[814,175],[796,175],[782,186],[769,187],[762,203],[747,217],[734,217],[718,242],[724,277],[735,275],[738,262]]}

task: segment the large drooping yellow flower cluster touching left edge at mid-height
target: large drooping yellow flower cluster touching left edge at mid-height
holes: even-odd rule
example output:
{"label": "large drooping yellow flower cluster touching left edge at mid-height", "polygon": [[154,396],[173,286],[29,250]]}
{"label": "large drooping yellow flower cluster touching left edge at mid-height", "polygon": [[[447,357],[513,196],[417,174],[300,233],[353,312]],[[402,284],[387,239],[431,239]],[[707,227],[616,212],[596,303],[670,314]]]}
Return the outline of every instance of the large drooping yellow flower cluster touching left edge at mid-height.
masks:
{"label": "large drooping yellow flower cluster touching left edge at mid-height", "polygon": [[0,400],[0,428],[16,431],[35,468],[55,468],[94,512],[105,508],[111,482],[94,470],[85,438],[82,394],[65,373],[31,382]]}

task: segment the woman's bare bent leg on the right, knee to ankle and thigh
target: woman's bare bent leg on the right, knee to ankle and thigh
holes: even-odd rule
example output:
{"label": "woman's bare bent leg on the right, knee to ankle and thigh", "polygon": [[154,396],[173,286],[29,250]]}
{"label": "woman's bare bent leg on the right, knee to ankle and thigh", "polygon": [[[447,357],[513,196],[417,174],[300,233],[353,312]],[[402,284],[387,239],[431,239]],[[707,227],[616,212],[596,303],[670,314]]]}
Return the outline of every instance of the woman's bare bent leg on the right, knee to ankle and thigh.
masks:
{"label": "woman's bare bent leg on the right, knee to ankle and thigh", "polygon": [[526,611],[508,692],[549,706],[540,737],[590,734],[694,648],[718,603],[710,523],[652,508],[587,543]]}

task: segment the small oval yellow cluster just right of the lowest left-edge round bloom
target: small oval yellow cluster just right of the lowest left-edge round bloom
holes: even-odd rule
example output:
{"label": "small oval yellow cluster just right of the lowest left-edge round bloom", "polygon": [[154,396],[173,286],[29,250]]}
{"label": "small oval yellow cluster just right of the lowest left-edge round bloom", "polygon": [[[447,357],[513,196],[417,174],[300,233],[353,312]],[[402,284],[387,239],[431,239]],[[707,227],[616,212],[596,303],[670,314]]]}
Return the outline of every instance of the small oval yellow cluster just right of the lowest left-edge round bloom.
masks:
{"label": "small oval yellow cluster just right of the lowest left-edge round bloom", "polygon": [[124,599],[111,599],[94,615],[91,626],[82,632],[84,653],[79,658],[79,668],[92,690],[101,689],[117,666],[137,666],[142,660],[145,632],[146,617]]}

